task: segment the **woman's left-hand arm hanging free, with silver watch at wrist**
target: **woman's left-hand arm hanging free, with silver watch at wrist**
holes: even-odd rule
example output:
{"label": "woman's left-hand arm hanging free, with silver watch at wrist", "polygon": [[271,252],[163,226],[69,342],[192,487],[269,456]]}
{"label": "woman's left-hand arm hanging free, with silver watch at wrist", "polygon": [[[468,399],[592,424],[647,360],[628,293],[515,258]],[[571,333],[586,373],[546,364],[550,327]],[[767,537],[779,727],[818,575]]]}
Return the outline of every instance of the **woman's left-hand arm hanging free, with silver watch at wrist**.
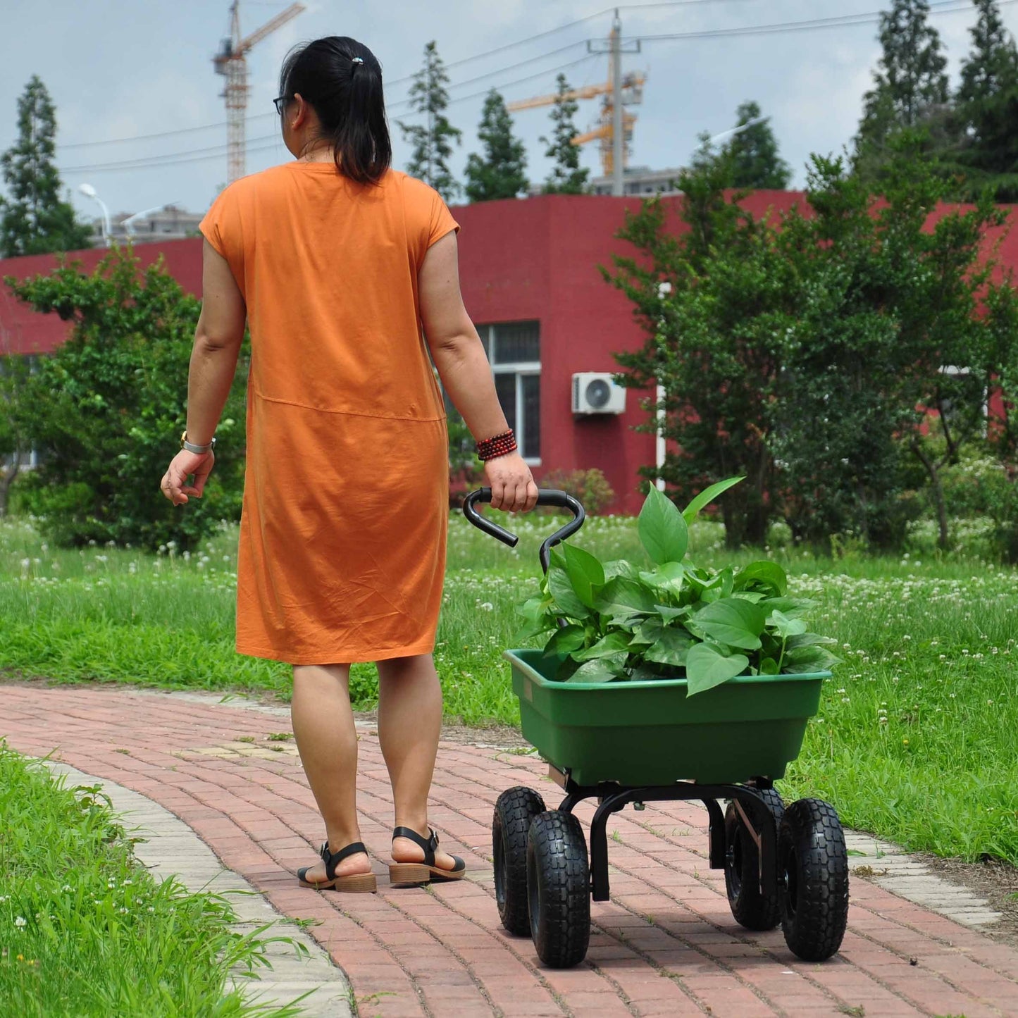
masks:
{"label": "woman's left-hand arm hanging free, with silver watch at wrist", "polygon": [[[223,413],[244,338],[247,308],[226,259],[208,240],[202,261],[202,314],[194,330],[187,377],[187,441],[208,445]],[[163,475],[161,490],[174,504],[202,497],[216,457],[181,450]],[[193,485],[187,477],[194,474]]]}

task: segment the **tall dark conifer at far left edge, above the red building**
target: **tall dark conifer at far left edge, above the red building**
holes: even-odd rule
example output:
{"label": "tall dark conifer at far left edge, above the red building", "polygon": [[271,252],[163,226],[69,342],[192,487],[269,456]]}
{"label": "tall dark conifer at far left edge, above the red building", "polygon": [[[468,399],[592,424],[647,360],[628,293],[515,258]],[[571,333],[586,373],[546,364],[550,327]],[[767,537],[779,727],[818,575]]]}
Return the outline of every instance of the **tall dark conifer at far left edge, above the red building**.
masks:
{"label": "tall dark conifer at far left edge, above the red building", "polygon": [[8,197],[0,199],[0,256],[45,254],[91,247],[91,230],[60,200],[56,112],[33,75],[17,101],[17,140],[0,157]]}

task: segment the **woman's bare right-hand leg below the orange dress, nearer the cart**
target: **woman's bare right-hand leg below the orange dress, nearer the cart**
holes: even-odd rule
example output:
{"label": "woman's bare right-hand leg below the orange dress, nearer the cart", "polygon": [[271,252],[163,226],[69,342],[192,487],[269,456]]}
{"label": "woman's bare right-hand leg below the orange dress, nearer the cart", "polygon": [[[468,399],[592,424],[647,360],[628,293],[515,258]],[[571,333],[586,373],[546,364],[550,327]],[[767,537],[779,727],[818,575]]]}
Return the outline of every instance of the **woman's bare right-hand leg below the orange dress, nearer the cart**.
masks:
{"label": "woman's bare right-hand leg below the orange dress, nearer the cart", "polygon": [[[428,793],[442,731],[442,687],[430,654],[380,661],[379,741],[389,769],[396,827],[428,837]],[[396,862],[420,862],[423,849],[406,838],[392,844]],[[435,864],[452,869],[441,849]]]}

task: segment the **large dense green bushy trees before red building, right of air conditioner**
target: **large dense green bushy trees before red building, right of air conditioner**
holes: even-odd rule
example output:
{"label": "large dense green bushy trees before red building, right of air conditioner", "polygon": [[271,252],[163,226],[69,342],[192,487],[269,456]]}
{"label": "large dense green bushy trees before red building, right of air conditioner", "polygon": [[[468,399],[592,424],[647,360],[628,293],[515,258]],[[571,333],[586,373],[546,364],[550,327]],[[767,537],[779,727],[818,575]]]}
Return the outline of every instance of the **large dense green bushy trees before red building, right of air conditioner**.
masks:
{"label": "large dense green bushy trees before red building, right of air conditioner", "polygon": [[664,388],[641,430],[665,411],[662,475],[681,498],[747,476],[722,499],[730,546],[761,543],[778,514],[810,544],[894,547],[904,492],[921,487],[947,545],[942,471],[981,441],[984,393],[1013,398],[1018,295],[983,254],[1005,213],[988,197],[940,207],[948,185],[920,145],[915,132],[892,143],[880,199],[842,160],[813,157],[808,208],[755,220],[726,190],[725,161],[706,159],[680,179],[684,232],[663,200],[626,219],[619,236],[637,256],[603,271],[647,340],[616,354],[620,381]]}

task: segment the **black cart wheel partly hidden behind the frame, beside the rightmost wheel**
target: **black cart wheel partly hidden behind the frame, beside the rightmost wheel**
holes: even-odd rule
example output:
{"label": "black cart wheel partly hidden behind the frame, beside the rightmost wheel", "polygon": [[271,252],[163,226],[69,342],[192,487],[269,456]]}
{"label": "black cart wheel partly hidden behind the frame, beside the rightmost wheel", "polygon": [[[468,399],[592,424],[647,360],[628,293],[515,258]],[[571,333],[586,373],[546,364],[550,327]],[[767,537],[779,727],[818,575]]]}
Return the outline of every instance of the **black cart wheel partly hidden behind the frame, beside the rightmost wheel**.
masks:
{"label": "black cart wheel partly hidden behind the frame, beside the rightmost wheel", "polygon": [[[774,824],[775,835],[785,814],[785,804],[773,788],[760,790],[762,803],[742,808],[750,823],[760,831],[765,824]],[[775,859],[777,867],[777,858]],[[725,812],[725,889],[732,915],[746,929],[774,929],[781,925],[782,896],[776,892],[767,896],[760,891],[759,855],[752,835],[730,802]]]}

